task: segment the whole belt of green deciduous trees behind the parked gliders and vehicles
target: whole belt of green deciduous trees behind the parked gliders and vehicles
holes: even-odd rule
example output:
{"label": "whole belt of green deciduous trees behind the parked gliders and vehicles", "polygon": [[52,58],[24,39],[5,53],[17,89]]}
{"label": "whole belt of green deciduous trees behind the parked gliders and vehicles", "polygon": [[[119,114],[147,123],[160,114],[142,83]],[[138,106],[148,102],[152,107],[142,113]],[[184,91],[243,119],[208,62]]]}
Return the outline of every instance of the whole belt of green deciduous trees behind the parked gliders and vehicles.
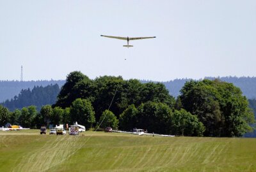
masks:
{"label": "whole belt of green deciduous trees behind the parked gliders and vehicles", "polygon": [[[31,107],[28,111],[33,111]],[[3,109],[0,114],[6,111]],[[7,110],[9,115],[1,115],[0,125],[17,117],[17,122],[27,127],[22,123],[26,116],[22,110],[17,110],[20,115]],[[101,124],[103,128],[129,131],[138,127],[183,136],[242,136],[252,131],[249,124],[255,122],[248,100],[232,83],[191,80],[175,99],[163,83],[123,80],[121,76],[90,80],[79,71],[67,76],[56,103],[43,106],[38,113],[25,114],[32,118],[31,127],[78,122],[87,129]]]}

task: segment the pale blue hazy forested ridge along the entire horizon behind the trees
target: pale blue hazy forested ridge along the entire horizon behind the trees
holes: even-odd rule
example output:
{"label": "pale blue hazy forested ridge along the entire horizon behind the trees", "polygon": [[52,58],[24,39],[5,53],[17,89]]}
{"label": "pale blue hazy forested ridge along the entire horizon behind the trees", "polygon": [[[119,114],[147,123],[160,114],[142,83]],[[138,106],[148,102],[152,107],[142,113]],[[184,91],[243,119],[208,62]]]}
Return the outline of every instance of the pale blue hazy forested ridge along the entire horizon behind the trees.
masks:
{"label": "pale blue hazy forested ridge along the entire horizon behind the trees", "polygon": [[[216,77],[205,77],[207,80],[215,80]],[[237,76],[225,76],[217,77],[218,80],[223,82],[233,83],[236,87],[239,87],[243,95],[248,99],[256,98],[256,77],[237,77]],[[161,82],[169,90],[169,93],[177,97],[180,95],[180,89],[184,86],[184,83],[189,82],[189,78],[180,78],[175,80],[170,80],[167,82]],[[197,81],[202,81],[197,80]],[[148,80],[140,80],[141,83],[152,82]],[[33,89],[35,85],[42,85],[43,87],[47,85],[58,84],[60,87],[64,85],[65,80],[38,80],[38,81],[4,81],[0,80],[0,102],[6,101],[6,99],[11,99],[15,95],[19,94],[22,89]]]}

